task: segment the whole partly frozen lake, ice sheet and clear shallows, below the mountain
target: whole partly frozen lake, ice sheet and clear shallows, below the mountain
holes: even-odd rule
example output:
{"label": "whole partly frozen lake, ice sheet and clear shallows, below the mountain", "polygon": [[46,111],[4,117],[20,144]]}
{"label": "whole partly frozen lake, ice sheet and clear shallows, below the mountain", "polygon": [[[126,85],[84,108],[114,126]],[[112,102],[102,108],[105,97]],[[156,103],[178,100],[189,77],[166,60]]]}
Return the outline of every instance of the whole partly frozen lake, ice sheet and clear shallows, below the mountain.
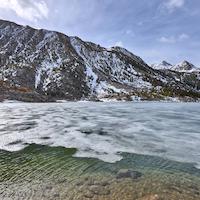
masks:
{"label": "whole partly frozen lake, ice sheet and clear shallows, below the mountain", "polygon": [[1,199],[200,199],[198,103],[5,102],[0,149]]}

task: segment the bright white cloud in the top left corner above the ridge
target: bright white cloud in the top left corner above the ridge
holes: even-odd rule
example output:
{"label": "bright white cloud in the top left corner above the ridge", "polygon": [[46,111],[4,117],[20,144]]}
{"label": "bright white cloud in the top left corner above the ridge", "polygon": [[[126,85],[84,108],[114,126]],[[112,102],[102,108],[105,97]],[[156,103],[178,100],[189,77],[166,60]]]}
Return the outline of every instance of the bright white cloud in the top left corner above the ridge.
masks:
{"label": "bright white cloud in the top left corner above the ridge", "polygon": [[14,11],[17,16],[32,22],[47,18],[49,14],[42,0],[0,0],[0,8]]}

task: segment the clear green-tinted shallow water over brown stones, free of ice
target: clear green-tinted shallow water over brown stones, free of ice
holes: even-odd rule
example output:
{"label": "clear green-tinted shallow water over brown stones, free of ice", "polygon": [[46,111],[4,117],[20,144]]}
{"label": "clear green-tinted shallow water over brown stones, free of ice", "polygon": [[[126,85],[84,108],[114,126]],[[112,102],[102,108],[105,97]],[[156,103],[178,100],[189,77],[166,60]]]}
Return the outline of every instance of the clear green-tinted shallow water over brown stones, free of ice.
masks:
{"label": "clear green-tinted shallow water over brown stones, free of ice", "polygon": [[200,199],[200,170],[192,164],[126,153],[111,164],[75,152],[35,144],[0,151],[0,199]]}

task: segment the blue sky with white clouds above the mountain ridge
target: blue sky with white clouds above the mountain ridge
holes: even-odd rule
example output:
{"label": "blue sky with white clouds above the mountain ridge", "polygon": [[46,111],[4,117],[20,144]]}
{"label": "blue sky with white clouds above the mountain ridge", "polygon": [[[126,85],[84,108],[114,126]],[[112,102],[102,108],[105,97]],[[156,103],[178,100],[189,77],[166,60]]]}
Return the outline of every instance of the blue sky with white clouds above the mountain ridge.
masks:
{"label": "blue sky with white clouds above the mountain ridge", "polygon": [[0,0],[0,19],[200,67],[200,0]]}

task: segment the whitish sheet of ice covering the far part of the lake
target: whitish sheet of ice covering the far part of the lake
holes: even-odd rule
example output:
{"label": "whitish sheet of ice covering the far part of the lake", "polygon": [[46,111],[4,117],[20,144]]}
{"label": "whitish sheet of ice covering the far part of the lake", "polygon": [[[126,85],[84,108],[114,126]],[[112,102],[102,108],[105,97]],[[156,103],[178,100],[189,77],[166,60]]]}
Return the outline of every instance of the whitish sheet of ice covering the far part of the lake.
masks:
{"label": "whitish sheet of ice covering the far part of the lake", "polygon": [[74,147],[78,157],[107,162],[120,152],[156,155],[200,166],[197,103],[1,103],[0,149],[30,143]]}

